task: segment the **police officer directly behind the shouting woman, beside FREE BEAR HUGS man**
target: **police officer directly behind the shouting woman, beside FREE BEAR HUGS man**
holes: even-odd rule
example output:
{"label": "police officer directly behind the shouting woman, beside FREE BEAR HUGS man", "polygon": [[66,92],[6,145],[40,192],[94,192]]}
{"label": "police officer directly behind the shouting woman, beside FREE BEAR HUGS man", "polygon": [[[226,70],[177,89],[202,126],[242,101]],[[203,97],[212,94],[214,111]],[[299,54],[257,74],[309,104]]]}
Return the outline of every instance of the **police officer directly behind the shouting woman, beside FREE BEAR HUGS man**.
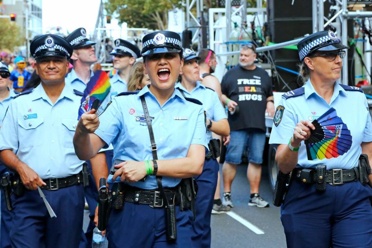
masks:
{"label": "police officer directly behind the shouting woman, beside FREE BEAR HUGS man", "polygon": [[205,157],[202,174],[195,177],[199,190],[195,202],[197,218],[193,222],[192,247],[211,247],[211,211],[217,186],[217,157],[220,149],[220,142],[212,138],[212,132],[228,136],[230,126],[217,93],[199,81],[199,59],[191,49],[186,48],[183,51],[182,81],[177,83],[176,88],[186,97],[201,101],[207,113],[206,142],[209,144],[209,154]]}

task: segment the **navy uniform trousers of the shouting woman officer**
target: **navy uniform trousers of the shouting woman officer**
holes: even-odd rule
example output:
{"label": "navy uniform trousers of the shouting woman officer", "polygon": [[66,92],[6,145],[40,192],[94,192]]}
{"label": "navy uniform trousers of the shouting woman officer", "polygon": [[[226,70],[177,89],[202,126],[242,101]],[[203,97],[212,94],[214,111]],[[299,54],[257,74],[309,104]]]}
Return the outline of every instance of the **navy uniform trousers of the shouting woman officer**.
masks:
{"label": "navy uniform trousers of the shouting woman officer", "polygon": [[124,203],[124,209],[112,209],[106,237],[109,248],[191,248],[190,210],[176,206],[177,239],[166,241],[164,208]]}

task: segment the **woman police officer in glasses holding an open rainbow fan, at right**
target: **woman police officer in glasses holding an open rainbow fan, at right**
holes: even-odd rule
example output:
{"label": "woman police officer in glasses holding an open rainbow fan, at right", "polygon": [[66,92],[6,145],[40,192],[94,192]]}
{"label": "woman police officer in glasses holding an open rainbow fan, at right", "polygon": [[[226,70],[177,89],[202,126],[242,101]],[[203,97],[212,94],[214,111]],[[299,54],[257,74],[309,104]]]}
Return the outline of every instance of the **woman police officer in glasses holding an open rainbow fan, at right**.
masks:
{"label": "woman police officer in glasses holding an open rainbow fan, at right", "polygon": [[372,177],[368,185],[359,159],[372,158],[371,115],[360,88],[337,83],[348,47],[321,31],[297,48],[305,85],[283,94],[269,141],[279,144],[280,171],[292,171],[281,210],[287,246],[372,247]]}

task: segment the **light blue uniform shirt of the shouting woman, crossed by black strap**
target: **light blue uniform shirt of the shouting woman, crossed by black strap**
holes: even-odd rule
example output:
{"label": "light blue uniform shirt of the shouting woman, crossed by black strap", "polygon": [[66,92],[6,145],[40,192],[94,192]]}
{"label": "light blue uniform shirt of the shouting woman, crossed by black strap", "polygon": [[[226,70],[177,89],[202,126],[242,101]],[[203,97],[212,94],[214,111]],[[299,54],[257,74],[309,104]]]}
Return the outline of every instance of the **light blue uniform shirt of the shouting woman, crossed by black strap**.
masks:
{"label": "light blue uniform shirt of the shouting woman, crossed by black strap", "polygon": [[[148,87],[137,94],[116,96],[99,116],[100,125],[95,134],[114,147],[114,159],[144,161],[152,160],[150,135],[144,118],[140,96],[144,95],[148,107],[159,160],[186,157],[191,144],[208,149],[203,107],[185,100],[179,90],[163,106],[160,106]],[[120,177],[116,179],[120,181]],[[164,187],[174,187],[178,178],[163,177]],[[112,183],[109,175],[108,183]],[[145,182],[130,184],[141,189],[157,189],[155,176],[147,176]]]}

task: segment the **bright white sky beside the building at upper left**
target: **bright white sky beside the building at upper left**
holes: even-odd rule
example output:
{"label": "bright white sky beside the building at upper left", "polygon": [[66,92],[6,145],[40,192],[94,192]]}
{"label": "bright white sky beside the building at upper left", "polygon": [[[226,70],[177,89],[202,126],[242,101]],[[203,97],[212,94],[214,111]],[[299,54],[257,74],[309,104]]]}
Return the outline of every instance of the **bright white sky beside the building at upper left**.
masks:
{"label": "bright white sky beside the building at upper left", "polygon": [[60,26],[68,32],[85,28],[93,34],[100,0],[43,0],[43,33]]}

